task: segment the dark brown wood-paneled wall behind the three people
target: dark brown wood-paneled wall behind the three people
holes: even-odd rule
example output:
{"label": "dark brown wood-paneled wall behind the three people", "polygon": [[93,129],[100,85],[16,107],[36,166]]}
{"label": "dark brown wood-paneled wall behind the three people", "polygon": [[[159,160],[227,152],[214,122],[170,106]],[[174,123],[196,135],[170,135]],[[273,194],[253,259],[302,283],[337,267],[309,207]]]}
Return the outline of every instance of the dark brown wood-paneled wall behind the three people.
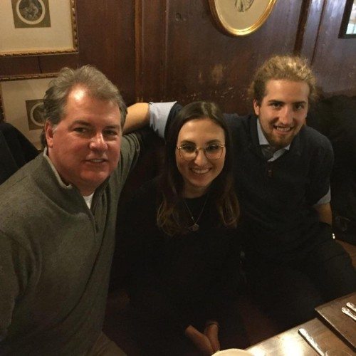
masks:
{"label": "dark brown wood-paneled wall behind the three people", "polygon": [[91,63],[135,101],[214,100],[251,108],[253,70],[274,53],[300,53],[327,95],[356,95],[356,38],[338,38],[347,0],[277,0],[248,36],[219,30],[207,0],[76,0],[78,53],[0,58],[0,76]]}

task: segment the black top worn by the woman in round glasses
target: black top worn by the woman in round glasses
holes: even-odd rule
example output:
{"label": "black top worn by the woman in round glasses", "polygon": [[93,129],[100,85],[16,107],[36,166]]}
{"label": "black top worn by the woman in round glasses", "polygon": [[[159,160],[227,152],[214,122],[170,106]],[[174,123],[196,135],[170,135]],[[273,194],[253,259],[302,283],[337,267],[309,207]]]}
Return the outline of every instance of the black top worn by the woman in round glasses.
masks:
{"label": "black top worn by the woman in round glasses", "polygon": [[[157,179],[145,184],[125,209],[122,254],[129,260],[132,303],[149,320],[157,313],[169,325],[187,328],[194,314],[219,320],[235,297],[239,278],[239,240],[235,229],[219,226],[214,202],[207,197],[199,230],[167,236],[157,228]],[[206,196],[186,199],[197,219]],[[184,206],[183,206],[184,207]],[[190,217],[187,211],[187,219]]]}

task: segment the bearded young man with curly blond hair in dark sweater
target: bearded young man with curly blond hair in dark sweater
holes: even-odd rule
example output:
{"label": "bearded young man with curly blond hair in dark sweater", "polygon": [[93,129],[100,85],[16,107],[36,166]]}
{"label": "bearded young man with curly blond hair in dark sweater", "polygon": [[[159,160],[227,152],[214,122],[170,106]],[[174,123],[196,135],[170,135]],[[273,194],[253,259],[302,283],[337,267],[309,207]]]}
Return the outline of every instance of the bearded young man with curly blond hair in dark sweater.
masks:
{"label": "bearded young man with curly blond hair in dark sweater", "polygon": [[[251,83],[255,115],[226,115],[247,280],[281,328],[313,318],[317,305],[356,290],[355,268],[330,227],[333,150],[305,125],[315,91],[303,59],[274,56]],[[180,108],[150,105],[160,135]]]}

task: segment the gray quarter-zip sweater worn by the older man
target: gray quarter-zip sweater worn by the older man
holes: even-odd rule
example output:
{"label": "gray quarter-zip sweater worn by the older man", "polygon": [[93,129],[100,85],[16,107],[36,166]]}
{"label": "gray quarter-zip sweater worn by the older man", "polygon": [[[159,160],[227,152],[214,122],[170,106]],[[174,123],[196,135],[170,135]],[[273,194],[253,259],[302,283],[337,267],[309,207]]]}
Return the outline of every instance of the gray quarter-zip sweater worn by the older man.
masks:
{"label": "gray quarter-zip sweater worn by the older man", "polygon": [[117,201],[140,153],[120,163],[88,209],[39,155],[0,186],[0,355],[80,355],[103,326]]}

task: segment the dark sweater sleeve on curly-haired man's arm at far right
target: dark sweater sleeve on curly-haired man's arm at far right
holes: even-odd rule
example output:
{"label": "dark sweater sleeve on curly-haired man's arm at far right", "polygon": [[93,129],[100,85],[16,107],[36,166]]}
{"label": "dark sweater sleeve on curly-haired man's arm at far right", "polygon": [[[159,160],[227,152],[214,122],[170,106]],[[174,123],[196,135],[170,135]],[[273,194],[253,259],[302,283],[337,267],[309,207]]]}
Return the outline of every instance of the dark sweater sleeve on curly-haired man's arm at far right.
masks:
{"label": "dark sweater sleeve on curly-haired man's arm at far right", "polygon": [[323,136],[318,149],[312,153],[310,161],[309,184],[306,191],[310,206],[323,201],[330,189],[330,174],[333,169],[334,154],[330,141]]}

